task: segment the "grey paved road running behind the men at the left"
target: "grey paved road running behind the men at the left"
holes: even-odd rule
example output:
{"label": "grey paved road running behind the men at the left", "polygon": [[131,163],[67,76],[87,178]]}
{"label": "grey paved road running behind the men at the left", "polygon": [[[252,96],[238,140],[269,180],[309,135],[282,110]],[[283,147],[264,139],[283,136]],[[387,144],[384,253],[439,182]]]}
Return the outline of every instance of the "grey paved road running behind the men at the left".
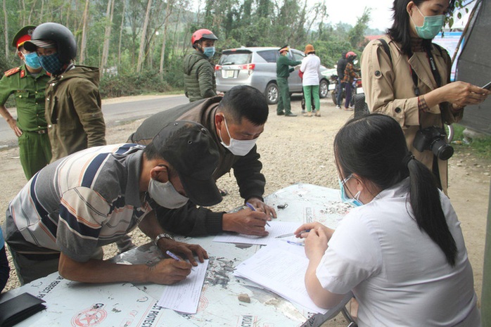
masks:
{"label": "grey paved road running behind the men at the left", "polygon": [[[188,103],[186,96],[168,96],[165,98],[103,104],[102,112],[106,124],[111,126],[148,117],[159,111],[184,103]],[[17,138],[5,120],[0,119],[0,148],[6,146],[17,146]]]}

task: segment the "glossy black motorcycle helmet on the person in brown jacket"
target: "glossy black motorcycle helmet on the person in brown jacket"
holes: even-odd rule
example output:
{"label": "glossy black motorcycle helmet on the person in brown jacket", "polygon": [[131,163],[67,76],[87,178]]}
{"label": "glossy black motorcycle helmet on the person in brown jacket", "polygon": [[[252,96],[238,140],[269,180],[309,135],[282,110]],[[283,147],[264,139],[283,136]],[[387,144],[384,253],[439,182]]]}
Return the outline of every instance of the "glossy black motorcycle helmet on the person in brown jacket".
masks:
{"label": "glossy black motorcycle helmet on the person in brown jacket", "polygon": [[[58,58],[62,63],[69,63],[77,56],[77,41],[67,27],[58,23],[43,23],[32,32],[31,41],[26,41],[24,48],[27,51],[36,51],[39,41],[47,40],[56,43]],[[42,44],[42,42],[41,42]]]}

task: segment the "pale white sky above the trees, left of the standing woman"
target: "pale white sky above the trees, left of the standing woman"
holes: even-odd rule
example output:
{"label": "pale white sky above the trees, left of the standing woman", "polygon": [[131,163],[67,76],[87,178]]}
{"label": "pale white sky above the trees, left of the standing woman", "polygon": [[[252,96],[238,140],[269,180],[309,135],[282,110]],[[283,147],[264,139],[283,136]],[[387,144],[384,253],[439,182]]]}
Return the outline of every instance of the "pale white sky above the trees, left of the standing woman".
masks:
{"label": "pale white sky above the trees, left of the standing woman", "polygon": [[[313,5],[319,0],[307,0]],[[362,16],[364,8],[371,8],[369,27],[385,31],[392,25],[393,0],[326,0],[328,21],[333,25],[339,22],[355,26],[357,19]]]}

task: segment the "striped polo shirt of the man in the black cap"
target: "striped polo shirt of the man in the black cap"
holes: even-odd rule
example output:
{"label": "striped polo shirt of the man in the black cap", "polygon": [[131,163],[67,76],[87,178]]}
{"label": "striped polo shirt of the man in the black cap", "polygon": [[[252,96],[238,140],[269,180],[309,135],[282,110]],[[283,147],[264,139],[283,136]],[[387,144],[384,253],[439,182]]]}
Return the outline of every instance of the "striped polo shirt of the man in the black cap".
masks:
{"label": "striped polo shirt of the man in the black cap", "polygon": [[86,262],[135,229],[152,210],[139,196],[143,149],[99,146],[44,167],[8,206],[8,245],[19,253],[63,252]]}

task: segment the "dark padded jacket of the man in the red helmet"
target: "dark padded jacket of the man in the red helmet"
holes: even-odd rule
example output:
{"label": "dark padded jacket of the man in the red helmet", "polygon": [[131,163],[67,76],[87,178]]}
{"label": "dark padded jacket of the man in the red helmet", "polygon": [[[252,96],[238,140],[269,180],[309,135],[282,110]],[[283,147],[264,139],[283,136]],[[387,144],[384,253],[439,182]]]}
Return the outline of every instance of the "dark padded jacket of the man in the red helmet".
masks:
{"label": "dark padded jacket of the man in the red helmet", "polygon": [[194,51],[184,57],[184,94],[189,102],[217,95],[215,70],[203,53]]}

